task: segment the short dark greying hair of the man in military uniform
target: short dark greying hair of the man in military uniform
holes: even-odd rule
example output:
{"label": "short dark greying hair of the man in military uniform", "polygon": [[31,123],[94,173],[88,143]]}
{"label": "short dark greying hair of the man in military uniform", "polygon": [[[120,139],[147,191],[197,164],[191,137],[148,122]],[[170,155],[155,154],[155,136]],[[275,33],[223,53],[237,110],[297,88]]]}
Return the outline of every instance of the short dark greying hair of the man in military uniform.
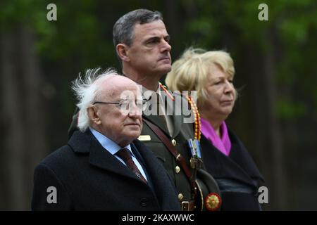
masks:
{"label": "short dark greying hair of the man in military uniform", "polygon": [[136,24],[151,23],[156,20],[162,20],[163,17],[159,11],[149,11],[148,9],[136,9],[121,16],[115,25],[113,25],[113,44],[123,43],[131,46]]}

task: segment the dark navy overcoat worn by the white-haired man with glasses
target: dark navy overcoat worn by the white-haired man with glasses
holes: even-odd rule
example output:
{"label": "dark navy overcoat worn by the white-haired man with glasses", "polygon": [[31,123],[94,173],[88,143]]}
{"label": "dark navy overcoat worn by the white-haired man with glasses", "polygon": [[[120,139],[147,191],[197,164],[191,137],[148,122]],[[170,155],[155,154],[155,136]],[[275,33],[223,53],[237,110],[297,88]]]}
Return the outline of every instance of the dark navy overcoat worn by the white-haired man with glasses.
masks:
{"label": "dark navy overcoat worn by the white-haired man with glasses", "polygon": [[[32,210],[180,210],[161,163],[139,141],[131,146],[149,184],[108,153],[89,130],[75,131],[68,145],[37,165]],[[49,186],[56,188],[56,204],[47,202]]]}

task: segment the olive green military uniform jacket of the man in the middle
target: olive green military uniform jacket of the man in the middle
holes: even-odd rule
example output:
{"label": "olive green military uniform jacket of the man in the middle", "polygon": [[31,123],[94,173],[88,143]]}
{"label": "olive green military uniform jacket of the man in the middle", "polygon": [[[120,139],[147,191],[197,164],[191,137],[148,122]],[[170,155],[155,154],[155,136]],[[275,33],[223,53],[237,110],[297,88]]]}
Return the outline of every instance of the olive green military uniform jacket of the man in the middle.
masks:
{"label": "olive green military uniform jacket of the man in the middle", "polygon": [[[190,109],[187,98],[180,94],[168,96],[166,91],[166,89],[165,91],[161,89],[161,100],[163,99],[163,104],[165,104],[165,107],[170,110],[168,117],[169,122],[173,123],[173,131],[171,132],[168,130],[167,124],[162,122],[162,118],[158,115],[149,115],[146,110],[143,110],[142,116],[144,119],[155,124],[161,129],[161,131],[163,131],[164,134],[166,134],[173,146],[177,148],[178,153],[180,153],[180,155],[185,158],[187,167],[193,174],[194,169],[192,169],[189,165],[189,160],[192,155],[190,153],[189,146],[187,145],[187,140],[194,140],[194,115],[192,115],[192,110]],[[144,98],[147,98],[147,96],[144,96]],[[151,100],[155,100],[154,98],[151,98]],[[174,101],[172,101],[172,98],[174,98]],[[155,103],[152,104],[155,105]],[[160,104],[162,104],[162,102]],[[159,160],[161,160],[163,163],[163,166],[168,171],[168,174],[173,180],[176,190],[178,191],[178,200],[180,200],[180,203],[192,200],[191,184],[182,167],[178,164],[177,160],[172,155],[172,153],[170,153],[168,148],[166,148],[163,142],[159,139],[159,136],[155,134],[145,122],[143,123],[143,129],[141,135],[139,136],[139,140],[142,141],[147,146],[147,148],[151,150],[154,155],[156,155],[156,157],[159,158]],[[201,204],[204,204],[204,200],[201,198],[206,197],[206,195],[211,192],[219,193],[218,185],[210,174],[204,172],[203,176],[200,175],[201,172],[199,172],[197,175],[199,176],[197,181],[199,186],[198,188],[201,190],[197,190],[196,201],[197,209],[199,210],[202,208]],[[202,196],[199,195],[200,191],[202,192]]]}

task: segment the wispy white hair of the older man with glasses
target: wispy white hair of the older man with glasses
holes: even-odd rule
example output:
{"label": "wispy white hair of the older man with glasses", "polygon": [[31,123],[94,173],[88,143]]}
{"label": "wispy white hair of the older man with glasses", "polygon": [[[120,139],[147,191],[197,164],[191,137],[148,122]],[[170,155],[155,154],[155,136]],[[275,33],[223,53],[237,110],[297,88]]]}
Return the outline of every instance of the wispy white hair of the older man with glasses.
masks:
{"label": "wispy white hair of the older man with glasses", "polygon": [[72,82],[72,89],[78,99],[77,107],[79,108],[77,127],[84,132],[89,127],[89,116],[87,108],[92,105],[100,90],[101,81],[110,77],[118,75],[118,72],[113,68],[108,68],[101,72],[101,68],[88,69],[85,77],[78,75],[77,79]]}

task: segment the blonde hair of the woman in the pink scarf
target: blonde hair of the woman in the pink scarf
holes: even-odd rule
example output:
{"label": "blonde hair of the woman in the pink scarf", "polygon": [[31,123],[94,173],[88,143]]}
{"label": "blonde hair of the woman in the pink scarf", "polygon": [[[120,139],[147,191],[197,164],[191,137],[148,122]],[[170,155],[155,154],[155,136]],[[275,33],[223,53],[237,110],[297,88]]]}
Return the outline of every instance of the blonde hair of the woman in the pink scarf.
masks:
{"label": "blonde hair of the woman in the pink scarf", "polygon": [[171,91],[197,91],[197,103],[201,105],[208,98],[205,84],[212,64],[234,77],[235,67],[229,53],[189,48],[173,63],[166,85]]}

